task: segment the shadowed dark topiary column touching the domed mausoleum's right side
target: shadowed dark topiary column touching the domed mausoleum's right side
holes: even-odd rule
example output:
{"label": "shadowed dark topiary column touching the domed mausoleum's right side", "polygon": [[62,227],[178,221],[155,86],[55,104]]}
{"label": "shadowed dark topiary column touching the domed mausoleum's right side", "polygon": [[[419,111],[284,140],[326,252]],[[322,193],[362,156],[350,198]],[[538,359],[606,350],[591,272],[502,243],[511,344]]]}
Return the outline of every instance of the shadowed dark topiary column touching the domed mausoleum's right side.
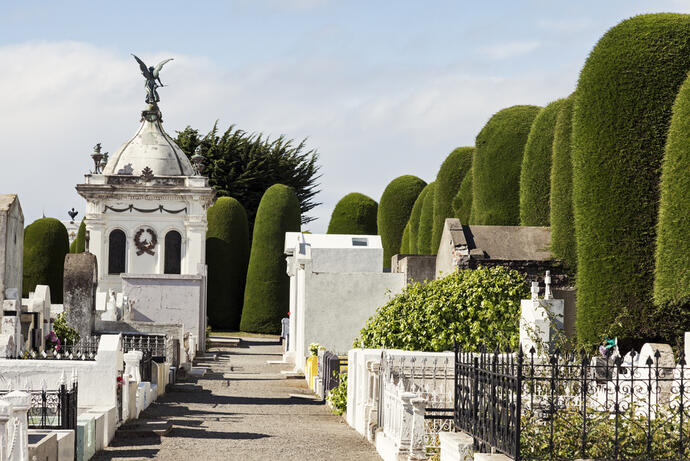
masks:
{"label": "shadowed dark topiary column touching the domed mausoleum's right side", "polygon": [[247,213],[234,198],[221,197],[206,217],[208,321],[216,331],[237,330],[249,264]]}

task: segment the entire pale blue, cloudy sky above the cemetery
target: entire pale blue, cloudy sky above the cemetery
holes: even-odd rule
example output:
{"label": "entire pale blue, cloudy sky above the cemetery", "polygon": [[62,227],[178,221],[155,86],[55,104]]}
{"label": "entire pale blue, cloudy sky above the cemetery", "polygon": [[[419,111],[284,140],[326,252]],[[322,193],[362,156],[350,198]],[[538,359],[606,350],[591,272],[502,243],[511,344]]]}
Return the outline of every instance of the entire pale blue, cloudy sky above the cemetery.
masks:
{"label": "entire pale blue, cloudy sky above the cemetery", "polygon": [[130,53],[173,57],[166,131],[306,138],[322,205],[305,229],[325,232],[344,195],[431,182],[497,111],[568,96],[603,34],[652,12],[690,0],[0,0],[0,193],[19,194],[26,224],[83,216],[93,146],[114,153],[144,108]]}

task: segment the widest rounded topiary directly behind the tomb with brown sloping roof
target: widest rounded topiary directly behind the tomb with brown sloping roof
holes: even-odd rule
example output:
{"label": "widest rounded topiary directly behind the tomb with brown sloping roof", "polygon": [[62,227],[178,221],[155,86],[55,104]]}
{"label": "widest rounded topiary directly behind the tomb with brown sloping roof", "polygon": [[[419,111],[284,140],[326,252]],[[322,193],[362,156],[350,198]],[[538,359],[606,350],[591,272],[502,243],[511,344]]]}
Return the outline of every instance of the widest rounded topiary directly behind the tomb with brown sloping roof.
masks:
{"label": "widest rounded topiary directly behind the tomb with brown sloping roof", "polygon": [[520,169],[540,107],[503,109],[477,135],[472,160],[472,224],[520,224]]}

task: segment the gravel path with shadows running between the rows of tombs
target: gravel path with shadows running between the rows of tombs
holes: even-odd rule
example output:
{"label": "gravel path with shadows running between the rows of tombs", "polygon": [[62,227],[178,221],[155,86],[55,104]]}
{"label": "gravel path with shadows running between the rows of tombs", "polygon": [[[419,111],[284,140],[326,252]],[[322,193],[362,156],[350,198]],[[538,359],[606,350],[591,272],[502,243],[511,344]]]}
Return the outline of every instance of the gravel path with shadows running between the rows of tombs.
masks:
{"label": "gravel path with shadows running between the rows of tombs", "polygon": [[285,379],[282,348],[273,340],[243,339],[211,351],[205,376],[178,383],[141,417],[169,420],[164,437],[118,436],[94,460],[380,460],[374,447],[308,394],[304,379]]}

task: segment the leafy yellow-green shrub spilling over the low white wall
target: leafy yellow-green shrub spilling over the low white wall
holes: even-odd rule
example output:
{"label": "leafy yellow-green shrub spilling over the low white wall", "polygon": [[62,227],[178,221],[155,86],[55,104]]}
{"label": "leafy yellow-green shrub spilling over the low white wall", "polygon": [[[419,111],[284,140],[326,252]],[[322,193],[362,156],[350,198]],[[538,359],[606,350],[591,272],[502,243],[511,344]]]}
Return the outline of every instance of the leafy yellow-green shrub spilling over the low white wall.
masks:
{"label": "leafy yellow-green shrub spilling over the low white wall", "polygon": [[439,280],[413,283],[376,310],[356,347],[446,351],[511,347],[519,342],[525,278],[505,267],[466,269]]}

